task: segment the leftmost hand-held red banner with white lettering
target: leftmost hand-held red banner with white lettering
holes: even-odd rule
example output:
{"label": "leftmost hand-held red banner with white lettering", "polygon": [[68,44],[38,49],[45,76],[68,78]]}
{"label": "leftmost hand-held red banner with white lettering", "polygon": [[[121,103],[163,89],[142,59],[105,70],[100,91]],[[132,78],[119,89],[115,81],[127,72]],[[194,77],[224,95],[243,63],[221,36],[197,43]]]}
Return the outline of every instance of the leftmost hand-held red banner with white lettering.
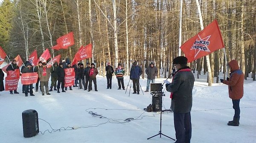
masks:
{"label": "leftmost hand-held red banner with white lettering", "polygon": [[6,91],[17,90],[18,82],[20,79],[20,69],[9,70],[6,76]]}

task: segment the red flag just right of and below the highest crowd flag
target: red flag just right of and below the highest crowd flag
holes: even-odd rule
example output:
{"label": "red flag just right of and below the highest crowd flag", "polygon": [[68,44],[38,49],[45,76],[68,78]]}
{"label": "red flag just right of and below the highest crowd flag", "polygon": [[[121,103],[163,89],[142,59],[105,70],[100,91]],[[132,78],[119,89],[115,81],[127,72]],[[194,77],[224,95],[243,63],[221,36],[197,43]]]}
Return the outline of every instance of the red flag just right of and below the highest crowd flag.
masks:
{"label": "red flag just right of and below the highest crowd flag", "polygon": [[82,59],[87,59],[92,57],[92,44],[88,44],[85,47],[81,48],[75,55],[77,61]]}

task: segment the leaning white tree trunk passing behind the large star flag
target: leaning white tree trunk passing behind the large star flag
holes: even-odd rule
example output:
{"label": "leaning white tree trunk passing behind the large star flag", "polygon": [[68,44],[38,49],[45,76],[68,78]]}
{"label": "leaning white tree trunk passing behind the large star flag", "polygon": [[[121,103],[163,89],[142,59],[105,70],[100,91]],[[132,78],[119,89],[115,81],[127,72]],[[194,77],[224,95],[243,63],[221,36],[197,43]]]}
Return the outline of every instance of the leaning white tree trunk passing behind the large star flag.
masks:
{"label": "leaning white tree trunk passing behind the large star flag", "polygon": [[[203,30],[204,29],[204,25],[203,25],[203,19],[202,19],[202,15],[201,15],[201,8],[199,6],[198,0],[196,0],[196,4],[197,4],[197,7],[198,7],[198,13],[199,13],[199,20],[200,20],[201,30]],[[208,69],[208,86],[212,86],[212,71],[211,71],[209,55],[206,56],[206,62],[207,62],[207,69]]]}

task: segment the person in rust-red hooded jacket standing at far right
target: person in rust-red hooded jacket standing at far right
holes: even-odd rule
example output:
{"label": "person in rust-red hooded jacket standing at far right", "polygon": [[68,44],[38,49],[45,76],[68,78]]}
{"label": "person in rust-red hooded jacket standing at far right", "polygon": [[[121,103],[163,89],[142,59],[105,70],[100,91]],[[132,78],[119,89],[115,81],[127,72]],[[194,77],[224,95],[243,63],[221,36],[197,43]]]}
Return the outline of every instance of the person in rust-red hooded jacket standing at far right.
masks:
{"label": "person in rust-red hooded jacket standing at far right", "polygon": [[229,126],[239,126],[240,119],[240,99],[244,95],[244,73],[239,69],[238,62],[232,60],[228,63],[230,67],[230,78],[227,80],[221,79],[221,82],[228,85],[229,97],[233,102],[233,109],[235,109],[235,115],[233,121],[229,121],[227,125]]}

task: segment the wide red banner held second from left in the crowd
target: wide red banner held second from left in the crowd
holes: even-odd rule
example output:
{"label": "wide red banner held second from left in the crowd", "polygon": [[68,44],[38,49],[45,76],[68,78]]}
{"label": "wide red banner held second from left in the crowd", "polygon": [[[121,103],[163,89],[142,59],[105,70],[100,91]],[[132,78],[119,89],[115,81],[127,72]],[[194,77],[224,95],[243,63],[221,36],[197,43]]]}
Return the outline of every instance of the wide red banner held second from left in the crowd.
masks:
{"label": "wide red banner held second from left in the crowd", "polygon": [[37,82],[38,73],[22,73],[20,76],[21,84],[29,85]]}

